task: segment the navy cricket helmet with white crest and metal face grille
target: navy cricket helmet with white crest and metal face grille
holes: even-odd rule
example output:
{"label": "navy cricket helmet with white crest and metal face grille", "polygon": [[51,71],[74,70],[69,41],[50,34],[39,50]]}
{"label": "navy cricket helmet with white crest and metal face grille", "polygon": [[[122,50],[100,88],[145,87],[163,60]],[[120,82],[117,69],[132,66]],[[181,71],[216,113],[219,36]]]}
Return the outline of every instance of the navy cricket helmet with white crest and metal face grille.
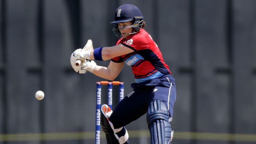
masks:
{"label": "navy cricket helmet with white crest and metal face grille", "polygon": [[[124,23],[128,21],[132,21],[133,25],[118,28],[118,23]],[[140,10],[135,5],[124,4],[116,9],[115,18],[114,21],[111,22],[111,24],[116,24],[116,27],[113,28],[113,31],[116,34],[116,36],[120,39],[122,38],[122,34],[120,32],[121,29],[132,28],[133,31],[128,34],[137,33],[142,28],[143,16]]]}

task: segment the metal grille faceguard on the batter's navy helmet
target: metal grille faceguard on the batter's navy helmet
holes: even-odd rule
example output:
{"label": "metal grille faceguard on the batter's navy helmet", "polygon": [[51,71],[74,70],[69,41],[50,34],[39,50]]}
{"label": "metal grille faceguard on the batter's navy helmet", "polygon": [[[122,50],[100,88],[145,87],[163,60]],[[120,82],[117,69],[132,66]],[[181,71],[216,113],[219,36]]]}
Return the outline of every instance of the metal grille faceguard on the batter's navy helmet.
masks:
{"label": "metal grille faceguard on the batter's navy helmet", "polygon": [[[133,25],[127,26],[127,27],[123,27],[123,28],[118,28],[118,24],[116,24],[116,27],[113,28],[114,33],[116,34],[116,36],[121,39],[123,37],[123,35],[128,35],[128,34],[135,34],[137,33],[143,25],[143,19],[135,19],[135,22]],[[122,29],[127,29],[127,28],[132,28],[133,31],[131,33],[127,33],[127,34],[122,34],[120,32],[120,30]]]}

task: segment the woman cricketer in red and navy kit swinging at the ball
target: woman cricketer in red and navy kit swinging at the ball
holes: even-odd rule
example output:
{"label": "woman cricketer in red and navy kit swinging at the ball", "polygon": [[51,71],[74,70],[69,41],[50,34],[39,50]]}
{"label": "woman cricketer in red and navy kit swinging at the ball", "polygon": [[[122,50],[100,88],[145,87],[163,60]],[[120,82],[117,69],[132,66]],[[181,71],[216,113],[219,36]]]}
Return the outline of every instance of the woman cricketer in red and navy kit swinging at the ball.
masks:
{"label": "woman cricketer in red and navy kit swinging at the ball", "polygon": [[[143,29],[145,22],[136,6],[125,4],[117,8],[111,24],[116,24],[113,31],[120,38],[115,46],[89,51],[77,49],[70,60],[76,72],[89,71],[108,80],[114,80],[125,63],[132,67],[133,91],[118,103],[114,111],[105,104],[101,107],[101,126],[107,143],[128,143],[124,126],[146,113],[151,144],[170,144],[176,88],[169,67],[164,63],[157,44]],[[103,67],[96,65],[93,59],[111,61],[108,67]],[[76,60],[82,61],[80,66],[75,65]]]}

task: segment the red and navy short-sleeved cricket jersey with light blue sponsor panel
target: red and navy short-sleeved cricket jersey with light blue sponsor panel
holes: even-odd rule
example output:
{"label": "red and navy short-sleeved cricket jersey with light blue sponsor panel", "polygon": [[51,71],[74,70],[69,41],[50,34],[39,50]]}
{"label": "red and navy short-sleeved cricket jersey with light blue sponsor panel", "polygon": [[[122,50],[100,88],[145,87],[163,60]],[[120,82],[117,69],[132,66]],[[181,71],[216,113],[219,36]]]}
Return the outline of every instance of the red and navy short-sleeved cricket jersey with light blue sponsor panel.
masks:
{"label": "red and navy short-sleeved cricket jersey with light blue sponsor panel", "polygon": [[118,40],[116,45],[122,44],[134,50],[134,52],[118,56],[112,59],[113,62],[125,62],[132,67],[136,83],[159,78],[171,74],[169,67],[164,63],[162,53],[151,36],[141,29],[134,36]]}

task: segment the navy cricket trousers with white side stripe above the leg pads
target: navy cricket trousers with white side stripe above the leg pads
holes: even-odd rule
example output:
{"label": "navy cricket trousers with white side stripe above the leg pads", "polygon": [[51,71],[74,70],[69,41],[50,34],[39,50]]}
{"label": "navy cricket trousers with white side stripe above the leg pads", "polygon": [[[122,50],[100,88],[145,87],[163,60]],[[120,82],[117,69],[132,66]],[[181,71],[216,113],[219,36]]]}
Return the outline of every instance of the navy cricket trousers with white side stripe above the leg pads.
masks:
{"label": "navy cricket trousers with white side stripe above the leg pads", "polygon": [[144,115],[153,100],[161,100],[173,115],[173,106],[176,100],[175,80],[171,75],[142,83],[131,84],[133,90],[118,103],[109,117],[114,128],[120,128]]}

